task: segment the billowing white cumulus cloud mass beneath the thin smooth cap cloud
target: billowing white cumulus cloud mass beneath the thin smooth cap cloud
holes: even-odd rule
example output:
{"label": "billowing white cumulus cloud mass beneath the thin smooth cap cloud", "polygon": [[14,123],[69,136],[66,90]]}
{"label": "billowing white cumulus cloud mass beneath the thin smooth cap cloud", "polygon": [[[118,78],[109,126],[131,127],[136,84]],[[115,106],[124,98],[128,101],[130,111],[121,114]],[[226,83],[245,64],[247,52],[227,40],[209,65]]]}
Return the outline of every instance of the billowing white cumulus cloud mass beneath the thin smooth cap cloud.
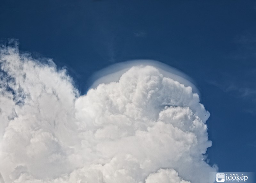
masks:
{"label": "billowing white cumulus cloud mass beneath the thin smooth cap cloud", "polygon": [[0,171],[15,183],[212,183],[209,112],[153,66],[79,96],[65,70],[1,48]]}

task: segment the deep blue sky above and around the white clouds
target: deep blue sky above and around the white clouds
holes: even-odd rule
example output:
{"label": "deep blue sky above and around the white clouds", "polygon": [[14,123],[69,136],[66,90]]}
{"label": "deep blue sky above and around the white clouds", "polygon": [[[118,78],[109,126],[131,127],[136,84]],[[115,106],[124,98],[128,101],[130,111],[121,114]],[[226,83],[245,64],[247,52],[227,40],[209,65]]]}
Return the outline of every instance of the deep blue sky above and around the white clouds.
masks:
{"label": "deep blue sky above and around the white clouds", "polygon": [[93,72],[154,59],[196,81],[220,172],[256,172],[256,1],[1,0],[0,39],[67,66],[81,94]]}

